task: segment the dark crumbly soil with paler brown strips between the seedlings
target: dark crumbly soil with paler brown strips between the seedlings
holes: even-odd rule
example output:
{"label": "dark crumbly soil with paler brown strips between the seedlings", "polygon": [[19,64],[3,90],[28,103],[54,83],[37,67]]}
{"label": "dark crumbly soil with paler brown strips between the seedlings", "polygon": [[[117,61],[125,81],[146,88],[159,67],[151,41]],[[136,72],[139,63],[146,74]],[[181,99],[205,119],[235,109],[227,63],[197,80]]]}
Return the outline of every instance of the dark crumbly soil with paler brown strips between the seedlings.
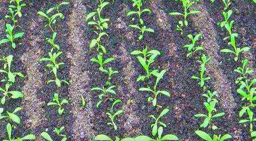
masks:
{"label": "dark crumbly soil with paler brown strips between the seedlings", "polygon": [[[238,123],[239,109],[244,103],[235,92],[237,88],[235,79],[238,75],[233,70],[241,66],[242,59],[248,59],[249,67],[255,70],[256,30],[253,1],[234,0],[230,5],[230,9],[234,11],[231,16],[231,19],[235,20],[233,31],[239,34],[237,46],[251,48],[250,52],[243,53],[237,62],[233,61],[232,55],[220,53],[221,49],[229,46],[222,40],[227,36],[226,30],[217,26],[217,22],[223,20],[221,15],[223,4],[219,0],[215,3],[209,0],[196,2],[192,9],[202,12],[188,17],[189,26],[184,28],[183,35],[175,30],[181,17],[169,15],[171,11],[182,12],[182,4],[172,0],[148,0],[143,8],[148,7],[152,13],[144,14],[143,20],[145,25],[155,32],[146,33],[142,41],[138,40],[137,30],[127,27],[129,24],[137,23],[137,17],[132,21],[131,17],[126,16],[127,11],[133,10],[132,3],[116,0],[112,4],[110,1],[103,10],[103,16],[110,19],[109,29],[106,30],[109,36],[104,37],[102,43],[108,51],[104,57],[114,56],[116,59],[108,66],[119,71],[118,75],[113,76],[112,81],[116,85],[116,98],[123,101],[115,108],[115,110],[123,110],[123,114],[116,119],[117,131],[107,125],[109,118],[104,114],[108,112],[110,103],[104,103],[99,110],[96,109],[98,94],[90,91],[92,87],[101,87],[107,79],[107,76],[98,70],[98,66],[90,61],[97,55],[96,50],[89,49],[90,40],[96,38],[96,34],[93,32],[93,27],[87,25],[85,20],[86,15],[97,8],[98,1],[67,1],[70,4],[60,9],[65,18],[57,21],[54,30],[57,32],[56,43],[63,52],[58,61],[65,63],[58,71],[59,78],[68,80],[69,86],[57,88],[53,84],[47,85],[47,80],[53,75],[45,67],[46,63],[39,62],[39,59],[46,57],[50,51],[45,38],[51,37],[51,31],[44,27],[46,21],[36,13],[39,10],[48,10],[60,3],[60,0],[25,0],[27,7],[23,8],[23,16],[18,20],[22,28],[16,28],[15,31],[24,32],[23,38],[16,41],[18,44],[15,50],[8,44],[1,45],[1,56],[9,54],[14,56],[12,70],[26,76],[23,79],[18,78],[16,85],[11,87],[22,91],[24,98],[12,99],[1,105],[7,111],[13,111],[18,106],[23,107],[19,112],[21,124],[11,122],[15,126],[12,131],[13,137],[34,134],[36,141],[42,141],[39,135],[48,129],[54,140],[60,140],[53,130],[54,127],[61,126],[65,127],[64,134],[67,135],[68,141],[91,141],[93,137],[102,133],[113,139],[115,136],[120,138],[142,134],[150,136],[150,124],[153,120],[149,115],[157,116],[164,108],[169,108],[170,112],[161,119],[167,124],[164,134],[175,134],[181,141],[201,141],[194,133],[195,130],[203,130],[210,134],[229,133],[233,137],[232,141],[252,141],[249,124]],[[0,3],[0,39],[3,39],[4,26],[7,22],[4,15],[8,13],[9,3],[7,0],[1,0]],[[199,40],[198,45],[203,45],[205,49],[203,53],[196,53],[193,57],[187,58],[187,51],[182,47],[189,43],[186,35],[200,32],[203,32],[203,39]],[[160,95],[157,100],[160,107],[156,108],[146,102],[150,94],[138,90],[147,82],[153,84],[155,80],[147,80],[144,83],[135,81],[137,76],[144,74],[144,70],[136,57],[130,54],[133,50],[141,50],[145,46],[161,52],[152,64],[152,68],[167,70],[158,88],[169,91],[171,96],[169,98]],[[211,70],[207,74],[212,79],[206,83],[206,90],[199,88],[197,81],[191,79],[192,75],[199,73],[199,63],[196,60],[199,60],[202,54],[210,56],[213,58],[212,62],[215,62],[215,65],[207,66],[207,70]],[[3,64],[0,65],[2,68]],[[1,74],[0,77],[3,75]],[[251,77],[255,78],[255,74]],[[3,87],[3,84],[0,86]],[[203,119],[193,117],[197,113],[206,113],[203,106],[205,98],[202,94],[207,90],[219,92],[216,109],[218,112],[226,113],[225,116],[212,121],[212,124],[219,128],[216,131],[200,128]],[[65,112],[61,116],[57,114],[57,107],[47,106],[55,92],[61,99],[66,98],[69,101],[69,104],[64,106]],[[81,95],[86,99],[84,109],[80,108]],[[8,122],[10,121],[0,121],[0,140],[7,138]],[[255,127],[255,124],[253,126]]]}

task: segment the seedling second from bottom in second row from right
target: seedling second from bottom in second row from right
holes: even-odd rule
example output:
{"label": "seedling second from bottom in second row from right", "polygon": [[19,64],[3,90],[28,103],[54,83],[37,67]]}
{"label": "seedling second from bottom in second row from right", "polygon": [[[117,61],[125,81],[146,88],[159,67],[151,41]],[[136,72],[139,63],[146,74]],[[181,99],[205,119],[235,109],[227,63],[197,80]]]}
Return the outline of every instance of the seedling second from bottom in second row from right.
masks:
{"label": "seedling second from bottom in second row from right", "polygon": [[195,117],[205,117],[205,120],[203,121],[203,123],[200,125],[200,127],[207,127],[210,123],[211,123],[211,120],[213,118],[216,118],[216,117],[220,117],[220,116],[223,116],[225,113],[217,113],[215,115],[212,114],[213,111],[216,112],[216,103],[218,101],[216,99],[213,99],[213,101],[211,101],[210,103],[207,103],[207,102],[204,102],[203,104],[205,105],[205,108],[206,110],[208,111],[208,116],[205,115],[205,114],[195,114],[194,116]]}

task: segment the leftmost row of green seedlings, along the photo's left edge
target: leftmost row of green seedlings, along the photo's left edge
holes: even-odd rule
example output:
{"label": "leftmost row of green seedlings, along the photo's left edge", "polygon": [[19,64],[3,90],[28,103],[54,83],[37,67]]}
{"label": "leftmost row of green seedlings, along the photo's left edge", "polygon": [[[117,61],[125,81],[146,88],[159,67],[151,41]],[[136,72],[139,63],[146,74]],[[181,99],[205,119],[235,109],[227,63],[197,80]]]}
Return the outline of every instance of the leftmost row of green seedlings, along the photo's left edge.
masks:
{"label": "leftmost row of green seedlings, along the photo's left edge", "polygon": [[[22,16],[22,8],[26,6],[25,3],[21,2],[22,0],[11,0],[10,5],[8,8],[9,15],[5,15],[6,18],[6,37],[7,39],[2,39],[0,40],[0,45],[3,43],[8,43],[10,47],[14,50],[16,49],[16,40],[21,38],[24,33],[23,32],[18,32],[14,33],[17,31],[17,27],[21,28],[18,25],[18,20],[17,18],[20,18]],[[12,4],[14,3],[14,4]],[[11,21],[12,23],[9,24],[8,22]],[[21,28],[22,29],[22,28]],[[19,99],[23,98],[22,92],[18,90],[12,90],[12,87],[16,84],[16,76],[19,76],[20,78],[24,78],[24,75],[20,72],[12,72],[13,64],[12,62],[14,61],[13,55],[8,55],[7,57],[2,57],[0,59],[1,62],[4,63],[3,69],[0,69],[0,73],[3,74],[3,79],[1,82],[3,83],[3,87],[0,87],[0,92],[1,92],[1,105],[6,104],[7,101],[10,101],[11,99]],[[22,107],[16,107],[13,112],[9,112],[6,110],[4,112],[4,108],[0,108],[0,120],[1,119],[7,119],[10,120],[13,123],[20,124],[20,117],[17,114],[22,110]],[[33,134],[26,135],[24,137],[17,137],[15,139],[14,137],[11,136],[11,131],[12,128],[16,128],[14,124],[8,123],[6,126],[8,138],[3,140],[3,141],[11,141],[11,140],[35,140],[36,137]]]}

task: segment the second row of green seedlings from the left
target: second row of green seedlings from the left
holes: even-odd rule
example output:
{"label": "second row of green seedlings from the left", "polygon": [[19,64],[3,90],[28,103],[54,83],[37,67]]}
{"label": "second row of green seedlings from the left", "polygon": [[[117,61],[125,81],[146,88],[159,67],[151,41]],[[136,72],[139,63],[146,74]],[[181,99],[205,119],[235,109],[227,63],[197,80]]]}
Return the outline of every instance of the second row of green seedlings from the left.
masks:
{"label": "second row of green seedlings from the left", "polygon": [[[57,32],[56,29],[53,29],[56,26],[56,22],[60,19],[64,19],[64,15],[60,11],[61,6],[68,5],[69,2],[61,2],[57,4],[55,7],[52,7],[48,9],[45,13],[43,11],[38,11],[37,14],[40,15],[41,17],[45,18],[47,22],[45,23],[45,27],[49,27],[51,31],[51,38],[46,38],[46,42],[50,45],[51,50],[48,52],[48,57],[46,58],[41,58],[39,62],[45,61],[46,67],[50,68],[50,74],[53,78],[52,80],[48,80],[47,84],[54,83],[57,85],[57,88],[61,87],[63,84],[69,85],[69,82],[66,80],[60,80],[58,78],[58,70],[61,66],[64,65],[63,62],[58,62],[58,58],[62,54],[61,48],[59,45],[56,44],[56,37],[57,37]],[[54,96],[52,98],[51,102],[47,103],[47,106],[51,105],[56,105],[58,107],[57,113],[61,115],[64,112],[64,108],[62,107],[64,104],[69,103],[66,99],[60,99],[59,94],[54,93]],[[63,134],[64,131],[64,126],[61,126],[60,128],[54,128],[53,132],[55,132],[57,138],[61,138],[61,141],[66,141],[67,137],[65,134]],[[47,133],[48,129],[46,131],[42,132],[40,134],[40,137],[47,140],[47,141],[53,141],[51,136]],[[55,137],[54,137],[55,138]]]}

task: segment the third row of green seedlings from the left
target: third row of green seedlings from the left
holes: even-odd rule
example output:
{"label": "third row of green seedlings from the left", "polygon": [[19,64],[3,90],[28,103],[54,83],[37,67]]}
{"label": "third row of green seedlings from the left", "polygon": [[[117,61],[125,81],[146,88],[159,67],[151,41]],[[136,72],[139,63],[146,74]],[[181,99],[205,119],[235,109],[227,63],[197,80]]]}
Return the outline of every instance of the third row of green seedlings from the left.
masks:
{"label": "third row of green seedlings from the left", "polygon": [[88,25],[92,25],[96,28],[94,31],[97,34],[96,39],[92,39],[89,48],[94,49],[96,47],[97,50],[97,57],[92,57],[90,61],[93,63],[96,63],[99,65],[99,71],[101,73],[104,73],[107,75],[107,80],[105,80],[104,84],[102,84],[101,87],[93,87],[91,91],[98,91],[98,102],[96,104],[96,108],[99,109],[100,105],[103,105],[107,101],[110,101],[111,107],[109,109],[109,112],[106,112],[105,114],[107,117],[109,117],[110,121],[107,123],[107,125],[110,125],[114,128],[114,131],[117,130],[117,125],[115,123],[115,119],[117,116],[119,116],[123,111],[122,110],[115,110],[115,106],[122,102],[121,99],[116,98],[116,91],[114,88],[116,87],[112,83],[112,76],[113,74],[117,74],[118,71],[114,70],[112,67],[107,68],[107,64],[111,61],[114,61],[114,57],[110,57],[107,59],[104,59],[104,55],[107,54],[106,47],[102,44],[102,39],[104,36],[108,36],[106,32],[104,32],[105,29],[109,28],[108,22],[110,21],[109,18],[104,18],[102,15],[102,10],[105,6],[109,5],[109,2],[106,2],[105,0],[99,0],[99,5],[97,9],[94,12],[89,13],[86,16],[86,21],[88,22]]}

